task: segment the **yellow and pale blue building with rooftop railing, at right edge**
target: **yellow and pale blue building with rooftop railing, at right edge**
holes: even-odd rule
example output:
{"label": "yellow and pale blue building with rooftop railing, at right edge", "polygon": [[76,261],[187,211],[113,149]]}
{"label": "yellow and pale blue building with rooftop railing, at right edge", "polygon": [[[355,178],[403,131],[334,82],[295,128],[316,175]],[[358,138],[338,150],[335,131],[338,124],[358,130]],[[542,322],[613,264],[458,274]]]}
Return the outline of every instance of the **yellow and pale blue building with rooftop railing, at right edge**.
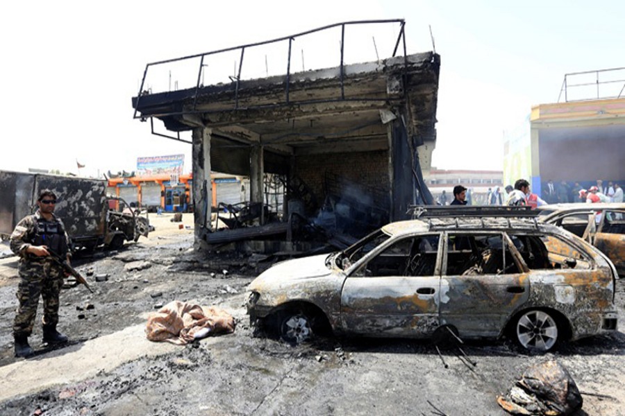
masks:
{"label": "yellow and pale blue building with rooftop railing, at right edge", "polygon": [[504,182],[524,177],[543,198],[549,180],[625,182],[624,79],[625,69],[565,75],[558,103],[535,105],[504,134]]}

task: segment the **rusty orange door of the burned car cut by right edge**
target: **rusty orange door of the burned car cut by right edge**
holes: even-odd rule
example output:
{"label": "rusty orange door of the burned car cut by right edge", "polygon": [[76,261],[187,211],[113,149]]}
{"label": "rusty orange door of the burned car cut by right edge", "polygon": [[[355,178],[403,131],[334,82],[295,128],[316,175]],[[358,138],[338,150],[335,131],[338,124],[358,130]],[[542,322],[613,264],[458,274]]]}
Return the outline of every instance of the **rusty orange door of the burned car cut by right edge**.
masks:
{"label": "rusty orange door of the burned car cut by right edge", "polygon": [[625,209],[603,211],[592,243],[625,275]]}

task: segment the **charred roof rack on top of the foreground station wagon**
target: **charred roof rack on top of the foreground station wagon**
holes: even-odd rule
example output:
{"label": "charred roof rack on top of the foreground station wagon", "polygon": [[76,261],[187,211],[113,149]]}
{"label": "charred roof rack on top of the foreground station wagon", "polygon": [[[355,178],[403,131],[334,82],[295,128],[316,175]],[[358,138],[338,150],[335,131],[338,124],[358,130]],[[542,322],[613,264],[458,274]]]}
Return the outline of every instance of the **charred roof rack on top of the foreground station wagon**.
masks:
{"label": "charred roof rack on top of the foreground station wagon", "polygon": [[409,205],[412,219],[418,218],[536,218],[540,213],[528,205]]}

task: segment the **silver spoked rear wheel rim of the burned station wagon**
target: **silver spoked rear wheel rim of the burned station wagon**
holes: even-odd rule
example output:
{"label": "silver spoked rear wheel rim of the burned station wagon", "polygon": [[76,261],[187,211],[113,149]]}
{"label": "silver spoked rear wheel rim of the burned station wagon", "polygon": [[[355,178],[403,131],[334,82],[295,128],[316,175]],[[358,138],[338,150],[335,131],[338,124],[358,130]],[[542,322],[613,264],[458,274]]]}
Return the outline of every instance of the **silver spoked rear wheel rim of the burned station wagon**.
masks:
{"label": "silver spoked rear wheel rim of the burned station wagon", "polygon": [[558,341],[558,324],[547,312],[526,312],[517,321],[517,339],[527,349],[549,351]]}

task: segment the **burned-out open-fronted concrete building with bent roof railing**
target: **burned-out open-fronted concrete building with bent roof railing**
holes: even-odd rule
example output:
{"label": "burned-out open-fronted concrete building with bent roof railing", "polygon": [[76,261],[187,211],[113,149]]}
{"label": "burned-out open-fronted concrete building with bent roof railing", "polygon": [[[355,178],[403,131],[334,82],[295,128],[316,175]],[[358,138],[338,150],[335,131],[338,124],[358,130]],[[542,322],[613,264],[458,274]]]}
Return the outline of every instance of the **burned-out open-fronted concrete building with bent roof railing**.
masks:
{"label": "burned-out open-fronted concrete building with bent roof railing", "polygon": [[[345,33],[373,24],[397,27],[392,53],[347,63]],[[345,22],[147,64],[140,94],[132,100],[135,119],[149,121],[155,135],[172,139],[183,140],[181,132],[192,132],[196,241],[297,240],[302,224],[324,229],[326,235],[359,237],[408,218],[409,205],[432,202],[422,169],[431,164],[436,139],[440,57],[408,54],[405,26],[401,19]],[[324,31],[338,33],[340,61],[294,71],[294,44]],[[268,45],[288,49],[284,73],[242,76],[247,54]],[[204,85],[210,62],[227,53],[238,56],[235,75]],[[194,87],[167,92],[146,87],[150,71],[180,62],[196,65]],[[167,134],[155,131],[154,119],[163,122]],[[249,177],[249,201],[218,209],[211,171]],[[228,211],[227,232],[213,229],[215,211]],[[253,230],[245,227],[251,224]]]}

